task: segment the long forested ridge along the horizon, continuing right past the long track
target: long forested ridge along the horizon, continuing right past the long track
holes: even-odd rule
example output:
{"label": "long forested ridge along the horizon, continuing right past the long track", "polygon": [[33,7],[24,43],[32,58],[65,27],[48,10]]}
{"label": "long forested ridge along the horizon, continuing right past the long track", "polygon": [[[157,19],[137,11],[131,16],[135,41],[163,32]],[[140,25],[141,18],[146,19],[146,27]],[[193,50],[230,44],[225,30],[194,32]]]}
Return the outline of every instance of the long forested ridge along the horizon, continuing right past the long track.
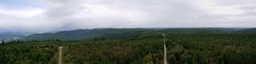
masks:
{"label": "long forested ridge along the horizon, continuing right past the long track", "polygon": [[175,33],[230,33],[233,28],[95,28],[56,33],[42,33],[23,37],[22,40],[92,40],[94,38],[118,39],[138,36],[140,32],[166,30]]}

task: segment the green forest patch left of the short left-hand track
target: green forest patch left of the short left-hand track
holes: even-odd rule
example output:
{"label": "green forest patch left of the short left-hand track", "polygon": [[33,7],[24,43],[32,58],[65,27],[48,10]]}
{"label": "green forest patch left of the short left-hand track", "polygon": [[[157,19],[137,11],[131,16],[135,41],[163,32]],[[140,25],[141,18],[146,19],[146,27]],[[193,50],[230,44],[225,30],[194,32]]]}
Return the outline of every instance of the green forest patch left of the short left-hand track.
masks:
{"label": "green forest patch left of the short left-hand track", "polygon": [[54,43],[6,43],[0,45],[0,64],[48,64],[56,52]]}

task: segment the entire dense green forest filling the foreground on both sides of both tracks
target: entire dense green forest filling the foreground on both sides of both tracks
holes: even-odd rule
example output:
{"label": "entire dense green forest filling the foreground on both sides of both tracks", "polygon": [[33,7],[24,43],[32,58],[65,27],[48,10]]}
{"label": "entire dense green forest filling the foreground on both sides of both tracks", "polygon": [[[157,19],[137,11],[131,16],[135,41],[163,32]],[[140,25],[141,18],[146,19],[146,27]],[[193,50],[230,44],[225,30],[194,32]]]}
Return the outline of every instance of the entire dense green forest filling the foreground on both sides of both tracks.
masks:
{"label": "entire dense green forest filling the foreground on both sides of both tracks", "polygon": [[57,64],[59,46],[63,64],[162,64],[162,33],[169,64],[256,64],[256,32],[226,28],[136,29],[88,40],[2,42],[0,64]]}

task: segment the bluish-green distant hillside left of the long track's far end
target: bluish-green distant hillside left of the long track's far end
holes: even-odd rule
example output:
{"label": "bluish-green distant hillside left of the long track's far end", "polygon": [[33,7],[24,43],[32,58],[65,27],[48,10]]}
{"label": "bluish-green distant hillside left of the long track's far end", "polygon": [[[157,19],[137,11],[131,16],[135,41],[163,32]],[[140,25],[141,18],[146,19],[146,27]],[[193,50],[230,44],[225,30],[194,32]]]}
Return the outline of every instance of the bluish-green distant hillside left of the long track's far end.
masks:
{"label": "bluish-green distant hillside left of the long track's far end", "polygon": [[133,36],[136,31],[145,30],[143,28],[95,28],[78,29],[56,33],[42,33],[26,36],[22,40],[91,40],[95,37],[106,39],[116,39],[125,36]]}

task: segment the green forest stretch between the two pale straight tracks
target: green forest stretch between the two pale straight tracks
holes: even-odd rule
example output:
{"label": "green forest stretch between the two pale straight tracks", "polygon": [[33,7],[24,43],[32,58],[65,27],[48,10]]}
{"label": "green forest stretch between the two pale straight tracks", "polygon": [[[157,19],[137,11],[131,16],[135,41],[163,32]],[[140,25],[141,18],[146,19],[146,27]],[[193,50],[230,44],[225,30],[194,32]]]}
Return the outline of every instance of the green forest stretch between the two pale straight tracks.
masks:
{"label": "green forest stretch between the two pale straight tracks", "polygon": [[[162,43],[157,37],[139,36],[120,40],[86,40],[64,47],[65,63],[130,64],[162,62]],[[151,54],[150,54],[151,53]],[[82,60],[82,61],[81,61]]]}

